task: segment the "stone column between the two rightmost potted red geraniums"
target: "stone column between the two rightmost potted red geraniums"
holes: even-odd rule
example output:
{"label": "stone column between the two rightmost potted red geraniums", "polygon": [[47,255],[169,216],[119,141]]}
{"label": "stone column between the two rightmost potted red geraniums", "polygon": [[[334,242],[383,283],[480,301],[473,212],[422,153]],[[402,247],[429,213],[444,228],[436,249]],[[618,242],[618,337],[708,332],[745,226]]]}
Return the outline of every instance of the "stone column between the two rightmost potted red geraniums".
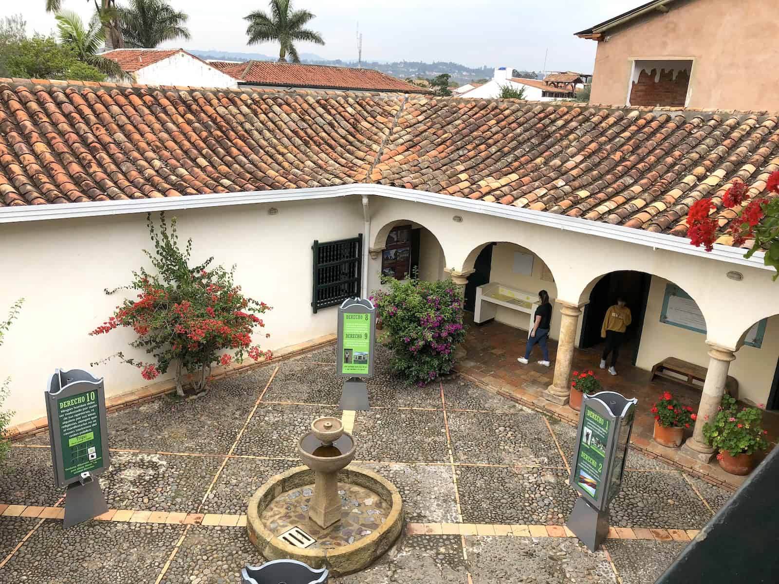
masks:
{"label": "stone column between the two rightmost potted red geraniums", "polygon": [[682,445],[682,452],[686,456],[703,463],[714,458],[714,449],[707,444],[706,438],[703,438],[703,424],[717,416],[717,408],[725,392],[725,382],[728,381],[728,368],[735,359],[735,354],[731,349],[710,345],[709,357],[709,368],[706,381],[703,382],[703,395],[700,396],[693,438],[689,438]]}

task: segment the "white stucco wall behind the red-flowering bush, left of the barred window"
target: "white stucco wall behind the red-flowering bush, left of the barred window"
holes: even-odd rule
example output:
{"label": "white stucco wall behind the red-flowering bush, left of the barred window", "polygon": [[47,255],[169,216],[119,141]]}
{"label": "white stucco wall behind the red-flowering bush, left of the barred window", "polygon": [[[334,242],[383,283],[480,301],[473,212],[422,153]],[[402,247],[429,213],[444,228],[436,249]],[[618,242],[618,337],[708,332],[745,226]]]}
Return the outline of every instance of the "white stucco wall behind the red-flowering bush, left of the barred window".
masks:
{"label": "white stucco wall behind the red-flowering bush, left of the barred window", "polygon": [[[274,203],[273,216],[269,207],[191,209],[167,217],[178,216],[183,245],[192,237],[193,260],[213,255],[213,265],[236,264],[235,281],[245,294],[273,307],[253,338],[273,350],[335,332],[337,308],[312,313],[311,245],[314,239],[354,237],[363,222],[359,198]],[[0,315],[25,298],[0,347],[0,377],[12,377],[4,409],[16,410],[16,422],[45,415],[44,386],[55,368],[104,377],[107,396],[147,385],[138,369],[118,360],[89,366],[119,350],[146,357],[128,347],[132,332],[88,335],[125,297],[107,296],[104,288],[125,285],[133,269],[148,266],[143,248],[150,248],[145,214],[0,226],[0,249],[6,250],[0,256]]]}

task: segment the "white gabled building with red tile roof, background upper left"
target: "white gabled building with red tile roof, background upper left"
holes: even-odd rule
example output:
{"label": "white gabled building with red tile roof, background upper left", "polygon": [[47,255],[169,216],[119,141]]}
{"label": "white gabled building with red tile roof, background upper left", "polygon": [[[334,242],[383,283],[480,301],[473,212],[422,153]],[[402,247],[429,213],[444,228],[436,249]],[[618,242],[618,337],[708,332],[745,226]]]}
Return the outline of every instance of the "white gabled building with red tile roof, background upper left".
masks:
{"label": "white gabled building with red tile roof, background upper left", "polygon": [[123,48],[101,55],[118,62],[122,71],[132,76],[132,83],[191,87],[238,86],[238,79],[184,49]]}

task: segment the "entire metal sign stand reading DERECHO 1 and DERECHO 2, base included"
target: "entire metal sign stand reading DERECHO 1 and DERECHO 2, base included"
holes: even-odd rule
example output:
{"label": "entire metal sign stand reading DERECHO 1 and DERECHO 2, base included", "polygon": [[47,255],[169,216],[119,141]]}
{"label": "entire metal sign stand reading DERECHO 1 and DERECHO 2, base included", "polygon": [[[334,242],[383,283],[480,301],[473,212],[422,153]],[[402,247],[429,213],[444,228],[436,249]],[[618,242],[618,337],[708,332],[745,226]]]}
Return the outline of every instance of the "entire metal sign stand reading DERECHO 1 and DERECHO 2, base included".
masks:
{"label": "entire metal sign stand reading DERECHO 1 and DERECHO 2, base included", "polygon": [[608,534],[608,504],[622,486],[636,403],[616,392],[583,396],[570,477],[581,497],[566,526],[590,551]]}

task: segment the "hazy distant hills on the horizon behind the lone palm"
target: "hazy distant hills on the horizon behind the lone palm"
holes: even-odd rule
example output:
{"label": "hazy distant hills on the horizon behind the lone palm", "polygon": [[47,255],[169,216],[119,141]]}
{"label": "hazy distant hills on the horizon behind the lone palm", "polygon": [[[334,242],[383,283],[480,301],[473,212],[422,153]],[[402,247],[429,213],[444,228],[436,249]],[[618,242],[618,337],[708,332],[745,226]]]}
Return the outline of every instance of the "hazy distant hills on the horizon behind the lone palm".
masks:
{"label": "hazy distant hills on the horizon behind the lone palm", "polygon": [[[189,51],[202,59],[218,59],[223,61],[276,61],[277,57],[263,55],[262,53],[238,53],[233,51]],[[324,59],[313,53],[301,53],[301,61],[312,65],[338,65],[340,67],[357,67],[357,62],[342,61],[341,59]],[[460,63],[436,61],[426,63],[424,61],[364,61],[361,65],[364,69],[376,69],[387,75],[406,79],[407,77],[426,79],[449,73],[456,83],[467,83],[476,79],[492,79],[492,67],[466,67]]]}

